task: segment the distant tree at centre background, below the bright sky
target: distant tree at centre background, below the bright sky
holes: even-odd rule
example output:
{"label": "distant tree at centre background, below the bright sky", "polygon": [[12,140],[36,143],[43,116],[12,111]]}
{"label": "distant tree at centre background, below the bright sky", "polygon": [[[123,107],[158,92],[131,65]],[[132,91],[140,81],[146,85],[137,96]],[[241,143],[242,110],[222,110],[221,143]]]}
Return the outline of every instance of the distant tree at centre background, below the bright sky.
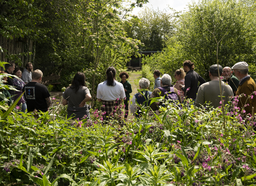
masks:
{"label": "distant tree at centre background, below the bright sky", "polygon": [[142,51],[161,51],[167,39],[174,33],[175,13],[172,9],[154,10],[145,7],[138,18],[133,16],[126,21],[125,31],[127,36],[140,40]]}

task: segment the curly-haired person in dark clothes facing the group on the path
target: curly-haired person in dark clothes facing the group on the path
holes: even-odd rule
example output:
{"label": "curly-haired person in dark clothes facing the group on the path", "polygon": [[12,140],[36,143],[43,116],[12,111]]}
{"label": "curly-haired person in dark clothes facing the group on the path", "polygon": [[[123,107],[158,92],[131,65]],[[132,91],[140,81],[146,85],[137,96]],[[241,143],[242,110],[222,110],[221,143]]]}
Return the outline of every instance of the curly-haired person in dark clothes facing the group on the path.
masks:
{"label": "curly-haired person in dark clothes facing the group on the path", "polygon": [[125,115],[124,118],[127,119],[127,116],[129,114],[129,101],[130,101],[130,94],[132,93],[132,86],[127,79],[129,78],[129,74],[127,72],[121,72],[119,74],[119,77],[122,79],[120,81],[123,84],[124,91],[125,91],[125,97],[126,99],[124,100],[124,105],[125,105]]}

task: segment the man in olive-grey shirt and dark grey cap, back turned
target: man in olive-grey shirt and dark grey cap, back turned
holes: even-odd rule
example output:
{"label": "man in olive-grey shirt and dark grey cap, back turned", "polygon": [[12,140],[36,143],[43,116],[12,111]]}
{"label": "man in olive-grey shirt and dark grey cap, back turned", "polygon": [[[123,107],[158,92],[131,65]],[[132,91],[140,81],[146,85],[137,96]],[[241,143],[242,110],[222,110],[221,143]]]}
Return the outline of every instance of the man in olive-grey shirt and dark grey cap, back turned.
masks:
{"label": "man in olive-grey shirt and dark grey cap, back turned", "polygon": [[[219,72],[222,73],[222,66],[219,65]],[[217,108],[221,106],[220,99],[220,81],[218,74],[218,65],[212,65],[209,70],[209,76],[211,81],[202,84],[197,92],[196,103],[197,107],[204,105],[206,103],[210,103],[213,108]],[[228,85],[221,81],[221,91],[222,91],[222,99],[223,104],[228,103],[228,101],[233,97],[233,90]]]}

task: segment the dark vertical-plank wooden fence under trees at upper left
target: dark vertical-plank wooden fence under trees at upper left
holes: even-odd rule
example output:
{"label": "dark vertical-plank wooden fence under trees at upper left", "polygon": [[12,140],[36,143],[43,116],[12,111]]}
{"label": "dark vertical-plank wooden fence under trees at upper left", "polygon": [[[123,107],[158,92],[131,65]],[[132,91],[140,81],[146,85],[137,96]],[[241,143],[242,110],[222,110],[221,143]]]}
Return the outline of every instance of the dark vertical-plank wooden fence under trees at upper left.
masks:
{"label": "dark vertical-plank wooden fence under trees at upper left", "polygon": [[21,67],[25,66],[26,63],[31,62],[31,55],[25,56],[25,54],[29,52],[33,52],[33,41],[31,39],[7,39],[0,36],[0,46],[2,47],[3,52],[0,50],[0,61],[2,62],[15,62],[6,58],[8,54],[15,54],[17,55],[22,65]]}

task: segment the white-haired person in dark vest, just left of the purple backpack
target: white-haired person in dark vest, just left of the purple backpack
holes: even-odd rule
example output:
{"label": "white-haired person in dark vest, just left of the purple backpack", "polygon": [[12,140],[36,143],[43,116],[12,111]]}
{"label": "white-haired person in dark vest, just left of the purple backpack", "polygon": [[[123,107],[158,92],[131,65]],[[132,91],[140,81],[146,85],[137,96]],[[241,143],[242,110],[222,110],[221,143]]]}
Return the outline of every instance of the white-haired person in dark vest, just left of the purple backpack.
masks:
{"label": "white-haired person in dark vest, just left of the purple backpack", "polygon": [[149,106],[149,103],[147,102],[149,96],[152,94],[151,91],[148,90],[150,85],[150,81],[146,78],[141,78],[139,81],[139,87],[140,90],[137,94],[135,94],[132,98],[132,103],[130,105],[130,111],[133,115],[136,117],[140,117],[141,111],[140,109],[136,107],[136,102],[139,105],[142,105],[145,102],[145,106]]}

